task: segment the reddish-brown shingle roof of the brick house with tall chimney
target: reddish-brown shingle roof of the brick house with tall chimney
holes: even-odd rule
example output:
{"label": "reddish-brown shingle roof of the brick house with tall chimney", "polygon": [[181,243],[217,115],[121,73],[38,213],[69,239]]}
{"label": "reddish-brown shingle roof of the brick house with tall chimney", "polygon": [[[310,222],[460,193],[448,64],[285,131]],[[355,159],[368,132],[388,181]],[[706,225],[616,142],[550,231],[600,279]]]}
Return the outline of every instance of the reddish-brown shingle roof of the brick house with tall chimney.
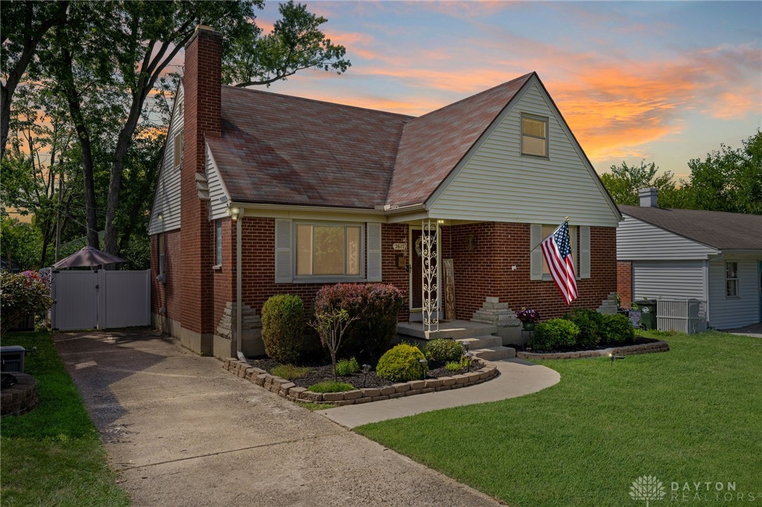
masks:
{"label": "reddish-brown shingle roof of the brick house with tall chimney", "polygon": [[418,118],[223,86],[223,134],[207,142],[233,201],[418,204],[532,75]]}

